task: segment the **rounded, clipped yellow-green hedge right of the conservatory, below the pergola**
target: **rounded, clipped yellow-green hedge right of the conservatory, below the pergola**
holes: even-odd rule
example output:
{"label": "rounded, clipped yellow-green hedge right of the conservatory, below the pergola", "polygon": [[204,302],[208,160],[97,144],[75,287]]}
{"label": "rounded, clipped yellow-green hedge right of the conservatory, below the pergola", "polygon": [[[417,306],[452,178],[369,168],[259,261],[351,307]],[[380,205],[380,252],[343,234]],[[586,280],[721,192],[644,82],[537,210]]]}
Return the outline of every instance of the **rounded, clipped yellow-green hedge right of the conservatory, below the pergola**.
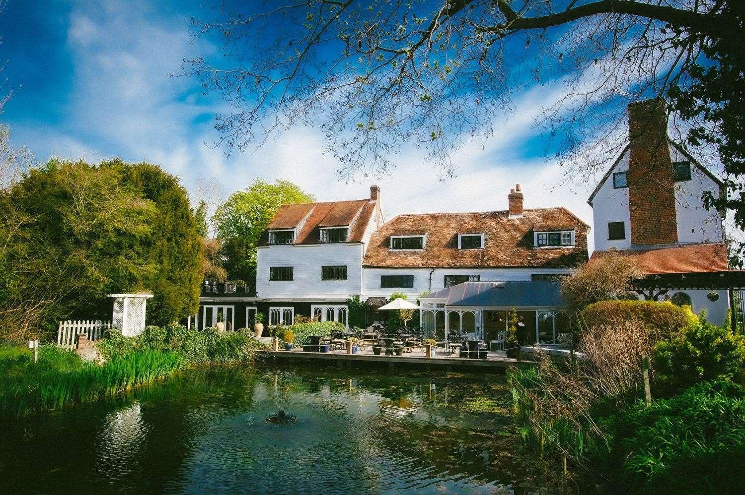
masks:
{"label": "rounded, clipped yellow-green hedge right of the conservatory, below the pergola", "polygon": [[656,301],[600,301],[590,304],[582,312],[588,327],[638,319],[658,337],[676,336],[699,319],[690,306],[679,307],[671,302]]}

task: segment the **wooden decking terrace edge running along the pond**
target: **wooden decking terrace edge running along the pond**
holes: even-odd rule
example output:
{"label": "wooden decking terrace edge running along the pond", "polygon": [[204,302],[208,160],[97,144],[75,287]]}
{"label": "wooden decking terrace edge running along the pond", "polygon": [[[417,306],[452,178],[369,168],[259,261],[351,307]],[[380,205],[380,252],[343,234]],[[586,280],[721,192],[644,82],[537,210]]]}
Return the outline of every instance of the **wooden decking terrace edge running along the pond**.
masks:
{"label": "wooden decking terrace edge running along the pond", "polygon": [[357,354],[346,354],[346,350],[335,349],[329,352],[304,352],[295,348],[292,351],[258,351],[259,359],[275,362],[293,363],[326,363],[339,366],[367,365],[387,366],[388,368],[411,367],[422,369],[458,370],[458,369],[481,369],[482,371],[503,371],[509,366],[530,366],[535,363],[530,361],[518,361],[507,357],[504,352],[490,352],[486,360],[475,360],[457,357],[457,354],[433,354],[426,357],[419,348],[405,352],[402,356],[375,355],[373,350],[367,346],[360,349]]}

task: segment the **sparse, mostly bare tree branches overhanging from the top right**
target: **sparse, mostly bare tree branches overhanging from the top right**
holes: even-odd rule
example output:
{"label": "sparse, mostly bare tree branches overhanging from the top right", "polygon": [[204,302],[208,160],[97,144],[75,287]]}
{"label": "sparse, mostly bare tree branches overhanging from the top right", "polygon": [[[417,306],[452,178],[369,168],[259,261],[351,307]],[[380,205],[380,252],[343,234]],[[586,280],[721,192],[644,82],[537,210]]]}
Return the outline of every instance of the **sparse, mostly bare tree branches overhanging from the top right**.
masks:
{"label": "sparse, mostly bare tree branches overhanging from the top right", "polygon": [[[679,137],[722,160],[730,191],[745,188],[741,1],[310,0],[218,11],[193,26],[219,36],[224,56],[190,60],[185,72],[234,103],[217,115],[228,149],[319,125],[343,175],[383,173],[410,142],[454,173],[451,152],[495,134],[516,89],[553,81],[565,88],[543,95],[539,124],[568,180],[606,167],[627,143],[624,106],[659,95]],[[708,204],[735,209],[745,226],[741,194]]]}

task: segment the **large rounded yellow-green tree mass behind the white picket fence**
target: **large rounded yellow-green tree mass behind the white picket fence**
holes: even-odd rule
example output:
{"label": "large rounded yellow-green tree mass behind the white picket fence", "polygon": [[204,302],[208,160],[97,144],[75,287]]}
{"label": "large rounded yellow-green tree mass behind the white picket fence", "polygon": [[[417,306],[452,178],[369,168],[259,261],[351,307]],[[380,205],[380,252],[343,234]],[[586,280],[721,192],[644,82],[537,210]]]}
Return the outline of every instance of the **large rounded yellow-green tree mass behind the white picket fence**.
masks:
{"label": "large rounded yellow-green tree mass behind the white picket fence", "polygon": [[38,332],[53,333],[61,319],[108,318],[107,294],[139,290],[155,296],[150,322],[197,310],[200,240],[174,176],[149,164],[53,159],[2,193],[0,315],[30,302]]}

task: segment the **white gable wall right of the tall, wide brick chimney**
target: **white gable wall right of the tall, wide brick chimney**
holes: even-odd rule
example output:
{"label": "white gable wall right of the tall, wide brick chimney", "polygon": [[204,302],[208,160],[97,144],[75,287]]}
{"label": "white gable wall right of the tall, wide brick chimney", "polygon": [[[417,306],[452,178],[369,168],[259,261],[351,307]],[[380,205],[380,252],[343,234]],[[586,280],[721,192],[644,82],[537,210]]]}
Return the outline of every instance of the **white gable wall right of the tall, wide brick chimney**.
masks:
{"label": "white gable wall right of the tall, wide brick chimney", "polygon": [[[673,162],[688,160],[674,147],[670,148]],[[704,191],[719,197],[719,185],[691,164],[691,180],[675,183],[675,212],[678,218],[678,240],[681,243],[717,243],[723,240],[722,217],[719,211],[706,211]]]}

